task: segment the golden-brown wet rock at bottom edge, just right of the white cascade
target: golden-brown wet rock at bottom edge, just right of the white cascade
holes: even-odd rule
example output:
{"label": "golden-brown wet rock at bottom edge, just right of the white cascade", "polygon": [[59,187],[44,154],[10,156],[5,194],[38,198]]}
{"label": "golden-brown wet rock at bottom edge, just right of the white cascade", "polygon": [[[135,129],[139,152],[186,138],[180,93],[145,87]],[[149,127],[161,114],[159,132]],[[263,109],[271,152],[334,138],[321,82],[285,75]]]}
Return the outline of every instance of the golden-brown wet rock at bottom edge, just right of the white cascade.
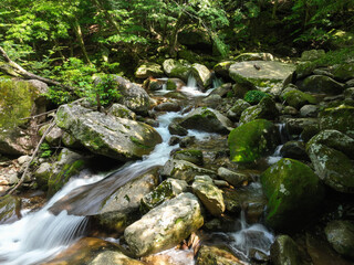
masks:
{"label": "golden-brown wet rock at bottom edge, just right of the white cascade", "polygon": [[94,239],[83,237],[64,252],[56,255],[43,265],[143,265],[142,262],[128,257],[117,244]]}

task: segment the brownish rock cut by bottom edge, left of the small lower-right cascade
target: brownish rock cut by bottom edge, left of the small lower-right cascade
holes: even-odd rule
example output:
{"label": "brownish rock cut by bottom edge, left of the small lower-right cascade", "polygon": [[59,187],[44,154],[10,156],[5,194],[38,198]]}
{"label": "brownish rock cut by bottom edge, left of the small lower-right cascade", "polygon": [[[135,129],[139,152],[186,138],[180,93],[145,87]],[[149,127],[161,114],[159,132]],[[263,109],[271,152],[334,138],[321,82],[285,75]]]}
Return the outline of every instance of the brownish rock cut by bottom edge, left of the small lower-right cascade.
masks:
{"label": "brownish rock cut by bottom edge, left of the small lower-right cascade", "polygon": [[227,247],[204,245],[199,250],[197,264],[244,265],[246,263],[236,257]]}

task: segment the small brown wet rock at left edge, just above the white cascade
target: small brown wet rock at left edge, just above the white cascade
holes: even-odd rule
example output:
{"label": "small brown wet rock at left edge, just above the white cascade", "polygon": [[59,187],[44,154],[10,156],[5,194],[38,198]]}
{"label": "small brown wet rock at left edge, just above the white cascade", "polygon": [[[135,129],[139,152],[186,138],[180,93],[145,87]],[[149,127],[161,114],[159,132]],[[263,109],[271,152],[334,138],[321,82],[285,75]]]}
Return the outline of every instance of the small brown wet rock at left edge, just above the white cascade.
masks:
{"label": "small brown wet rock at left edge, just above the white cascade", "polygon": [[21,200],[13,195],[4,195],[0,199],[0,224],[13,223],[22,218]]}

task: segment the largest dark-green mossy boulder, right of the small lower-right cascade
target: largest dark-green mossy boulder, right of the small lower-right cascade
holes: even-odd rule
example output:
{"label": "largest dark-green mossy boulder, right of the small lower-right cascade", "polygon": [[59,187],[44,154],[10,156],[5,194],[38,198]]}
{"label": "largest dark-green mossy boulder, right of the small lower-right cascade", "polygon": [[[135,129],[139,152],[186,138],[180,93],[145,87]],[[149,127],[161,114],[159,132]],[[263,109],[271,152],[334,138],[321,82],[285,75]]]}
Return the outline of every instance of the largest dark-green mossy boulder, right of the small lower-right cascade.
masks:
{"label": "largest dark-green mossy boulder, right of the small lower-right cascade", "polygon": [[312,169],[293,159],[283,158],[261,174],[268,199],[266,223],[272,229],[301,229],[324,198],[324,189]]}

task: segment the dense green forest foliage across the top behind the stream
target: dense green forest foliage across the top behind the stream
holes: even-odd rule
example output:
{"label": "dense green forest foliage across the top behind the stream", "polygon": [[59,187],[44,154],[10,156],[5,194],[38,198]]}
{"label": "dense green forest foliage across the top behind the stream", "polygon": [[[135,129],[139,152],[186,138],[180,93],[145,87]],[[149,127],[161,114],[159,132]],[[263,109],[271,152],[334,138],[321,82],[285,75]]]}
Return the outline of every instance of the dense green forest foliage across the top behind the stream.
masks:
{"label": "dense green forest foliage across the top behind the stream", "polygon": [[[75,96],[102,93],[103,104],[107,91],[93,74],[132,77],[166,57],[212,65],[244,51],[296,56],[341,47],[341,33],[354,31],[352,0],[2,0],[0,14],[0,45],[13,61],[77,87]],[[72,99],[58,89],[50,97]]]}

